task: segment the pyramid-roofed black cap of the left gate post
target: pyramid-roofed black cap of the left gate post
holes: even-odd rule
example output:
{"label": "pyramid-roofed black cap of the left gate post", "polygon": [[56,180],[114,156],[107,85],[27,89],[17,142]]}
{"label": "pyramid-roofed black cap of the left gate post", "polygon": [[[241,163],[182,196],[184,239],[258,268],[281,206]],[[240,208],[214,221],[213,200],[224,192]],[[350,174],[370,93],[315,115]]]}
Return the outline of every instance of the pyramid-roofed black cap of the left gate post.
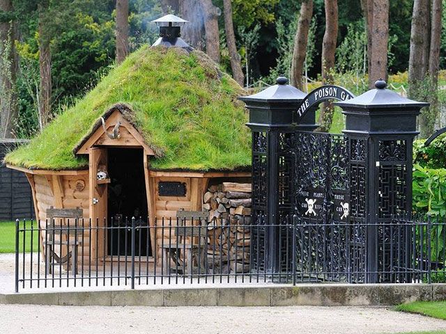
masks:
{"label": "pyramid-roofed black cap of the left gate post", "polygon": [[254,95],[238,97],[249,109],[248,126],[290,126],[293,123],[293,110],[307,95],[289,85],[286,77],[278,77],[276,83]]}

